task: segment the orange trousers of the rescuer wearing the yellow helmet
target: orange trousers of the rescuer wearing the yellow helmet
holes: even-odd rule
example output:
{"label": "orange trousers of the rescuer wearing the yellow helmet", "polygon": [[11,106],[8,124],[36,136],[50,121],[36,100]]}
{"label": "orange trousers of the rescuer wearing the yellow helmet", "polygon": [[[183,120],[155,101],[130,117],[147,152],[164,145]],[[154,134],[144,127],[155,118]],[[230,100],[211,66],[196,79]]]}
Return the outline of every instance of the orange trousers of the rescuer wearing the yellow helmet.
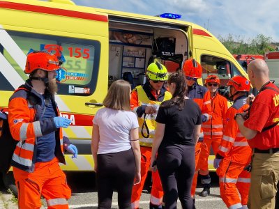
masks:
{"label": "orange trousers of the rescuer wearing the yellow helmet", "polygon": [[[142,189],[146,180],[147,173],[150,167],[151,160],[151,147],[140,146],[140,152],[142,155],[141,160],[141,175],[142,180],[139,184],[133,186],[132,191],[132,208],[140,207],[140,196],[142,195]],[[150,202],[155,206],[160,206],[163,201],[163,187],[160,181],[158,171],[152,172],[152,188]]]}

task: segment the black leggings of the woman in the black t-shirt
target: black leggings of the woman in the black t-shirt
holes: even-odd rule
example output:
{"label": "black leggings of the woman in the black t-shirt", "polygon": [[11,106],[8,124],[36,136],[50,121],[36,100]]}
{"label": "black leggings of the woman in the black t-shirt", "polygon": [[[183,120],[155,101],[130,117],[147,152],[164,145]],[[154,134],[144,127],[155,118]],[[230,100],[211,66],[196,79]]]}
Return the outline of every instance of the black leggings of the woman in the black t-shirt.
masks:
{"label": "black leggings of the woman in the black t-shirt", "polygon": [[190,191],[195,173],[195,146],[162,144],[157,158],[165,208],[176,208],[179,198],[183,209],[192,209]]}

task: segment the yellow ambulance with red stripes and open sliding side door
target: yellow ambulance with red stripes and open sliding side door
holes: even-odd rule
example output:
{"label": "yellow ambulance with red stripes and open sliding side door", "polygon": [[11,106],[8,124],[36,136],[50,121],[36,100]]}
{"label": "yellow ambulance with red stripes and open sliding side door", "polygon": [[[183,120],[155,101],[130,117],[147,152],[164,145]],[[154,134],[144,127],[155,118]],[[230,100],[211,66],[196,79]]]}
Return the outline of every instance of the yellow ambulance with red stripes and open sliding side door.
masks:
{"label": "yellow ambulance with red stripes and open sliding side door", "polygon": [[[62,54],[56,102],[61,116],[72,121],[63,134],[79,155],[66,155],[67,165],[61,167],[93,171],[92,119],[114,80],[143,84],[153,59],[173,72],[183,60],[194,58],[202,64],[202,79],[216,74],[223,85],[234,75],[246,76],[209,31],[165,16],[172,19],[76,6],[67,0],[0,1],[0,109],[7,109],[10,95],[28,78],[23,70],[30,49]],[[212,157],[209,166],[213,169]]]}

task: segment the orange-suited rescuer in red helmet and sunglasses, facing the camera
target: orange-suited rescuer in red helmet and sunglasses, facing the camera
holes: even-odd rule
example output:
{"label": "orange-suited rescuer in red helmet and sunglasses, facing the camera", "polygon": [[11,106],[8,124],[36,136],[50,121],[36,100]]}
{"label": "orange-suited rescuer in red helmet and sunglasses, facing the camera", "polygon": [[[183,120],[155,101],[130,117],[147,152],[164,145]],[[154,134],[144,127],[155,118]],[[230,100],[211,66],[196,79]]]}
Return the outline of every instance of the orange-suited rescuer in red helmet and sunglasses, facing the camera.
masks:
{"label": "orange-suited rescuer in red helmet and sunglasses, facing the camera", "polygon": [[204,85],[209,89],[211,98],[212,118],[202,123],[204,131],[204,143],[207,151],[202,151],[199,157],[199,175],[204,189],[199,196],[207,196],[210,194],[211,178],[209,176],[209,154],[212,146],[214,155],[216,155],[218,146],[223,136],[223,124],[225,123],[225,114],[227,111],[227,99],[218,93],[220,79],[217,75],[209,75]]}

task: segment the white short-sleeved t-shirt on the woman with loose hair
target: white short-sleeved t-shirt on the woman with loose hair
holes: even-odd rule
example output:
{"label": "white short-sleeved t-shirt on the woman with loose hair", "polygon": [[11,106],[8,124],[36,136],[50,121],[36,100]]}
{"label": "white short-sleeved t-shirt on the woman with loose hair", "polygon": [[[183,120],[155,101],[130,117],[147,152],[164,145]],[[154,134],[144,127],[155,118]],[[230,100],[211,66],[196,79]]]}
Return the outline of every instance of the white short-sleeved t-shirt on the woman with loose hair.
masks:
{"label": "white short-sleeved t-shirt on the woman with loose hair", "polygon": [[98,125],[100,134],[97,154],[129,150],[130,130],[139,127],[137,116],[132,111],[107,107],[97,111],[93,123]]}

